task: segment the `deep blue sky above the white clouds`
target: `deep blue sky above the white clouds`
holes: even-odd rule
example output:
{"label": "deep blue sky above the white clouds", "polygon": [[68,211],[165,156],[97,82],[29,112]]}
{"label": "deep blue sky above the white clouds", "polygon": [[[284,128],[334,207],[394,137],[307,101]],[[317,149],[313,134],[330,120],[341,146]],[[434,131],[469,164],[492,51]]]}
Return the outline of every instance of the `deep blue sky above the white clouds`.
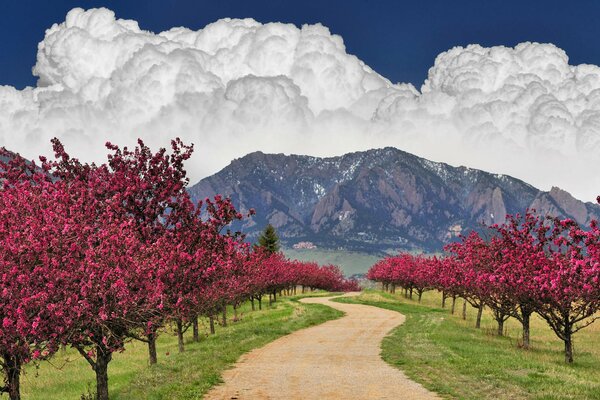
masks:
{"label": "deep blue sky above the white clouds", "polygon": [[0,3],[0,84],[35,84],[31,67],[44,30],[73,7],[114,10],[143,29],[199,29],[223,17],[321,22],[348,52],[393,82],[420,87],[435,56],[453,46],[551,42],[571,64],[600,64],[600,2],[578,1],[4,1]]}

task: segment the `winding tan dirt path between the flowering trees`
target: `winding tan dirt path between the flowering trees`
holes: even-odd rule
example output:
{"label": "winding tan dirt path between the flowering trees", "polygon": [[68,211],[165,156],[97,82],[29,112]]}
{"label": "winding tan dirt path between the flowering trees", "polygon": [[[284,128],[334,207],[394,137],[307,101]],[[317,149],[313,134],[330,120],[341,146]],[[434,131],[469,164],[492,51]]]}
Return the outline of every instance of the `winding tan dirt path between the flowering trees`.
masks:
{"label": "winding tan dirt path between the flowering trees", "polygon": [[234,368],[225,371],[225,383],[204,398],[438,399],[379,356],[381,340],[404,322],[402,314],[329,299],[301,301],[326,304],[346,315],[243,355]]}

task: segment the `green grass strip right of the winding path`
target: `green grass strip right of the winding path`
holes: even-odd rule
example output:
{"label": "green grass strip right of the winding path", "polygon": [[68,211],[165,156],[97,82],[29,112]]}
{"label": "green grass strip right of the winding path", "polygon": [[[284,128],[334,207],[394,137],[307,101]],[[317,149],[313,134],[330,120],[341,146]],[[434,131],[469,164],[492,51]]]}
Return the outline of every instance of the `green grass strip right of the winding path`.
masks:
{"label": "green grass strip right of the winding path", "polygon": [[382,343],[382,357],[411,379],[450,399],[600,399],[600,324],[575,335],[575,363],[564,363],[562,342],[539,319],[532,320],[532,349],[518,348],[521,329],[507,322],[507,336],[496,336],[486,312],[475,329],[476,310],[468,318],[440,307],[441,295],[428,292],[422,304],[401,294],[367,291],[336,301],[398,311],[406,322]]}

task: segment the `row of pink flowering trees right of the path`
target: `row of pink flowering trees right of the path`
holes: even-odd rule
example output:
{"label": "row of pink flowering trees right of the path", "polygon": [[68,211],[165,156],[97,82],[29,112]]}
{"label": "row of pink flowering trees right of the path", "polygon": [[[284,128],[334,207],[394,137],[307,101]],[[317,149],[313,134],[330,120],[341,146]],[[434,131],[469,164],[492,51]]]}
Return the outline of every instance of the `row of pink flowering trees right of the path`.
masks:
{"label": "row of pink flowering trees right of the path", "polygon": [[472,232],[446,246],[444,257],[400,254],[376,263],[367,277],[384,289],[407,292],[436,289],[442,306],[457,298],[478,310],[480,327],[488,307],[504,333],[508,318],[522,325],[522,345],[530,346],[530,318],[542,317],[564,342],[565,360],[573,362],[573,335],[599,318],[600,229],[582,229],[570,219],[543,218],[535,212],[507,216],[489,227],[484,238]]}

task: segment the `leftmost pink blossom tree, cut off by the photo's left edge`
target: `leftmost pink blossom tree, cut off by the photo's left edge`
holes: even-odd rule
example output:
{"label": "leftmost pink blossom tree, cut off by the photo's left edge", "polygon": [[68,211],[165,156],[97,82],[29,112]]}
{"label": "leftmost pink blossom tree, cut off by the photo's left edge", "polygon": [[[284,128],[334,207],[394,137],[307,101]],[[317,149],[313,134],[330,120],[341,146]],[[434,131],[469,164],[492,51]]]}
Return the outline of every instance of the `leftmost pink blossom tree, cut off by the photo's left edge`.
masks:
{"label": "leftmost pink blossom tree, cut off by the photo's left edge", "polygon": [[23,365],[50,357],[68,323],[52,274],[52,252],[65,246],[56,221],[67,210],[60,183],[19,155],[0,156],[0,393],[17,400]]}

